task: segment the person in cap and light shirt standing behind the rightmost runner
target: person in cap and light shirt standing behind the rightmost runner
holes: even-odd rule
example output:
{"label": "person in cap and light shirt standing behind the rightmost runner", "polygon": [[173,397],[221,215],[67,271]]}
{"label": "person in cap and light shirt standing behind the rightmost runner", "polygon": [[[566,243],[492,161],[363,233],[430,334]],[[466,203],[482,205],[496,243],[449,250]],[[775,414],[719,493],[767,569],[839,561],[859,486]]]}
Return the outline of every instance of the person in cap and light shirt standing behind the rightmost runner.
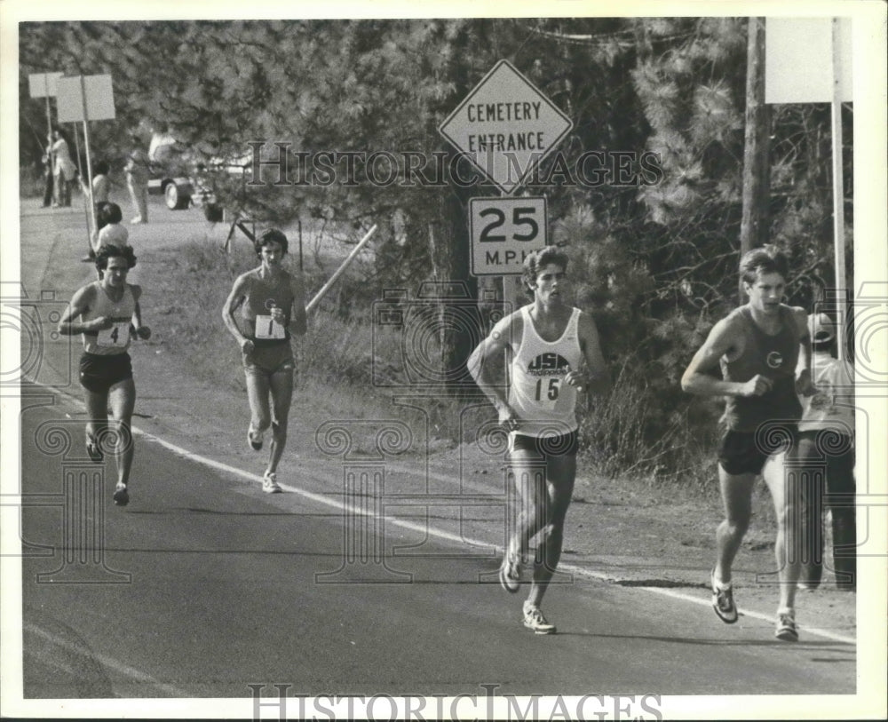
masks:
{"label": "person in cap and light shirt standing behind the rightmost runner", "polygon": [[826,313],[808,318],[811,379],[817,393],[802,397],[798,456],[805,473],[802,528],[805,540],[799,586],[815,589],[823,573],[823,503],[832,516],[836,587],[857,586],[857,519],[854,510],[854,367],[833,356],[836,324]]}

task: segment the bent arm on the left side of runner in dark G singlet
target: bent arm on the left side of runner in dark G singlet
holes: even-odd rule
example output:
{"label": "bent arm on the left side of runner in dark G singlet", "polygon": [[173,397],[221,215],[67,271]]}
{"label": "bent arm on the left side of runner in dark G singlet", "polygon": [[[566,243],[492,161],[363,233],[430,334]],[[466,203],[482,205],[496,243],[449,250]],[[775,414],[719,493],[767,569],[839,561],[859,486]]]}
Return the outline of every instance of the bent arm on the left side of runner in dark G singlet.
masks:
{"label": "bent arm on the left side of runner in dark G singlet", "polygon": [[[719,361],[725,354],[738,350],[740,337],[740,331],[729,319],[718,321],[685,369],[681,377],[682,390],[698,396],[761,396],[768,391],[773,382],[761,374],[745,382],[720,378]],[[718,377],[714,373],[718,373]]]}

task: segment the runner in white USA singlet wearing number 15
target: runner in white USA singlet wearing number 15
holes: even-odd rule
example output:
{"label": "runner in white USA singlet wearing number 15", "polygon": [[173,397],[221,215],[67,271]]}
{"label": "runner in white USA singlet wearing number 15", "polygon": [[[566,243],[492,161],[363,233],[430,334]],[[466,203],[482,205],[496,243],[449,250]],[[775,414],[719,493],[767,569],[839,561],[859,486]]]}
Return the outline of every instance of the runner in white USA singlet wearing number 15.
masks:
{"label": "runner in white USA singlet wearing number 15", "polygon": [[[567,305],[567,255],[548,247],[531,253],[523,281],[530,305],[499,321],[472,353],[468,368],[509,432],[509,467],[519,497],[515,529],[500,567],[500,583],[519,591],[530,540],[539,534],[524,625],[551,634],[540,610],[561,556],[564,520],[576,476],[577,392],[604,392],[610,375],[589,313]],[[507,354],[511,383],[497,383],[497,361]]]}

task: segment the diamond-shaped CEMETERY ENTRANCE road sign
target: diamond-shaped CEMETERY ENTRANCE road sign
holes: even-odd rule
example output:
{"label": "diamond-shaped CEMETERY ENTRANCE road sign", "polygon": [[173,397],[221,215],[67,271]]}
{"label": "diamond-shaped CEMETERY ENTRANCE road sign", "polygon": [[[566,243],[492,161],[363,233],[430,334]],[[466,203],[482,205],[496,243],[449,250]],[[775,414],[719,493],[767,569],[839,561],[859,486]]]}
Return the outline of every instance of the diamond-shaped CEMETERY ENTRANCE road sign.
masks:
{"label": "diamond-shaped CEMETERY ENTRANCE road sign", "polygon": [[438,130],[511,194],[573,127],[508,60],[500,60]]}

